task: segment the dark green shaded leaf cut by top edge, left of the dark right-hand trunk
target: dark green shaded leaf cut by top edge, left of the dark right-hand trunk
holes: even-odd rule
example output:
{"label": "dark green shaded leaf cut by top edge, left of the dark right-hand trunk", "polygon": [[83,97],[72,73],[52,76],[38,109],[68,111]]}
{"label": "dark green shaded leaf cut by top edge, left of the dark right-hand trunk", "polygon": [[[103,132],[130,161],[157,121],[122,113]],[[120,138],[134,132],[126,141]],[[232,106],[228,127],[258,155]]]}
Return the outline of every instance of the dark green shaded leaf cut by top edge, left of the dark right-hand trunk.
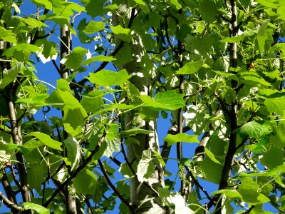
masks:
{"label": "dark green shaded leaf cut by top edge, left of the dark right-hand trunk", "polygon": [[200,0],[199,1],[199,14],[206,22],[212,22],[217,15],[217,5],[214,0]]}

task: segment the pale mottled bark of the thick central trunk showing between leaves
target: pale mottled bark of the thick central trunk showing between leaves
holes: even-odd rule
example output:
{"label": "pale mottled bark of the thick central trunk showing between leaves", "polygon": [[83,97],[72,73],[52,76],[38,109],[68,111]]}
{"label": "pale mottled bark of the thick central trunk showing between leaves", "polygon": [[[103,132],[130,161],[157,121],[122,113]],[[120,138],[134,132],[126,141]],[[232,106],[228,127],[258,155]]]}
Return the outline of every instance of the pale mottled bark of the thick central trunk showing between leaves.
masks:
{"label": "pale mottled bark of the thick central trunk showing between leaves", "polygon": [[[126,14],[128,12],[128,1],[125,1],[125,4],[120,4],[118,13]],[[130,17],[130,16],[129,16]],[[113,14],[113,26],[118,26],[120,24],[120,18]],[[118,38],[115,38],[119,41]],[[140,66],[140,61],[143,55],[147,54],[145,49],[142,46],[142,41],[138,34],[133,35],[133,42],[130,43],[130,47],[132,50],[133,60],[130,63],[122,66],[121,68],[125,68],[130,76],[130,82],[133,83],[140,91],[141,94],[148,93],[148,86],[150,86],[150,78],[147,77],[147,73],[142,72],[142,68]],[[142,156],[142,152],[150,148],[150,150],[155,150],[159,152],[159,144],[157,140],[156,133],[156,121],[145,122],[140,117],[136,118],[137,122],[140,123],[140,126],[134,127],[131,123],[133,121],[133,115],[130,113],[125,117],[126,129],[131,128],[145,128],[147,130],[152,131],[149,136],[145,134],[138,134],[135,136],[138,141],[140,141],[140,145],[136,143],[132,143],[127,146],[128,153],[128,161],[130,163],[138,163],[140,161],[140,157]],[[155,190],[158,187],[164,185],[163,177],[162,177],[162,168],[159,163],[155,163],[156,170],[152,174],[152,178],[147,180],[147,183]],[[162,202],[158,195],[155,195],[150,188],[146,188],[145,185],[142,185],[138,181],[137,178],[130,179],[130,203],[134,205],[135,213],[166,213],[167,211],[163,208]]]}

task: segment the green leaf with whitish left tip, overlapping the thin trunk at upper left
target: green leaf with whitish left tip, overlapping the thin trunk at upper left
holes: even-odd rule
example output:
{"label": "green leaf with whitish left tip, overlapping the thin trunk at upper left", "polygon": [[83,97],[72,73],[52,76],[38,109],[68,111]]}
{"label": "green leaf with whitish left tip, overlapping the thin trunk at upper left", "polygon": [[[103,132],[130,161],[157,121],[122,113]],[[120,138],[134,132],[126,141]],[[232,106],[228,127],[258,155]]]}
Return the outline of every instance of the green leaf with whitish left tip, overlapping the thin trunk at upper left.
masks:
{"label": "green leaf with whitish left tip, overlapping the thin trunk at upper left", "polygon": [[81,66],[87,52],[86,49],[83,49],[80,46],[76,47],[71,54],[66,55],[66,57],[61,60],[61,63],[63,63],[66,68],[76,70]]}

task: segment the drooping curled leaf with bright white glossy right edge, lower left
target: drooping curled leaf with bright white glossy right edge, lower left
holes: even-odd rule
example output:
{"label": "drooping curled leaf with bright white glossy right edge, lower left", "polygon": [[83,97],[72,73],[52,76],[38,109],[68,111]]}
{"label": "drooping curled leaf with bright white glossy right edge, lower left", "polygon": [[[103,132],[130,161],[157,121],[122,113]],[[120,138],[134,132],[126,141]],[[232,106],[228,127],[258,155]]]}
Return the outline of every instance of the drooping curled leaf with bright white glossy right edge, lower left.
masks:
{"label": "drooping curled leaf with bright white glossy right edge, lower left", "polygon": [[81,146],[73,136],[68,136],[63,142],[67,150],[67,159],[71,162],[71,171],[73,171],[81,161]]}

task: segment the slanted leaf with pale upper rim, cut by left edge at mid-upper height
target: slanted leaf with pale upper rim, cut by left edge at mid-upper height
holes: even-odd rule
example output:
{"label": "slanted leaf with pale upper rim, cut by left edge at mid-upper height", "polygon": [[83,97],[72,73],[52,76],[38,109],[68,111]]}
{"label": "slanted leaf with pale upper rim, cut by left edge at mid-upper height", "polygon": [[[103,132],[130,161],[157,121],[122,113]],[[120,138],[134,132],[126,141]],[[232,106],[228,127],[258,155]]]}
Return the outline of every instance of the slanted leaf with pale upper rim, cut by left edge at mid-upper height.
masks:
{"label": "slanted leaf with pale upper rim, cut by left edge at mid-upper height", "polygon": [[0,89],[4,89],[9,83],[13,82],[23,66],[24,63],[17,62],[13,68],[2,71],[2,76],[0,77]]}

